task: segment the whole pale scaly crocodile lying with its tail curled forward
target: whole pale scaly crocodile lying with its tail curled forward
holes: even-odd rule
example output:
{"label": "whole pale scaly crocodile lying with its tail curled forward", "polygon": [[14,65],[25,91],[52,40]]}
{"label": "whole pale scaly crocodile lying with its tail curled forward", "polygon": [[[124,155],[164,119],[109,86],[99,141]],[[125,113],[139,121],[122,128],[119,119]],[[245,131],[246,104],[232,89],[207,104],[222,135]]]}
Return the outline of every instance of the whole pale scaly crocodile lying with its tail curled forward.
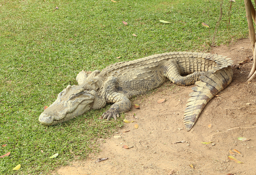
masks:
{"label": "whole pale scaly crocodile lying with its tail curled forward", "polygon": [[103,119],[116,120],[131,108],[132,96],[159,87],[167,80],[192,87],[184,111],[184,125],[189,131],[210,99],[232,81],[232,60],[222,55],[202,52],[169,52],[137,60],[117,62],[102,71],[81,71],[78,85],[68,85],[39,116],[40,123],[55,125],[91,109],[112,104]]}

